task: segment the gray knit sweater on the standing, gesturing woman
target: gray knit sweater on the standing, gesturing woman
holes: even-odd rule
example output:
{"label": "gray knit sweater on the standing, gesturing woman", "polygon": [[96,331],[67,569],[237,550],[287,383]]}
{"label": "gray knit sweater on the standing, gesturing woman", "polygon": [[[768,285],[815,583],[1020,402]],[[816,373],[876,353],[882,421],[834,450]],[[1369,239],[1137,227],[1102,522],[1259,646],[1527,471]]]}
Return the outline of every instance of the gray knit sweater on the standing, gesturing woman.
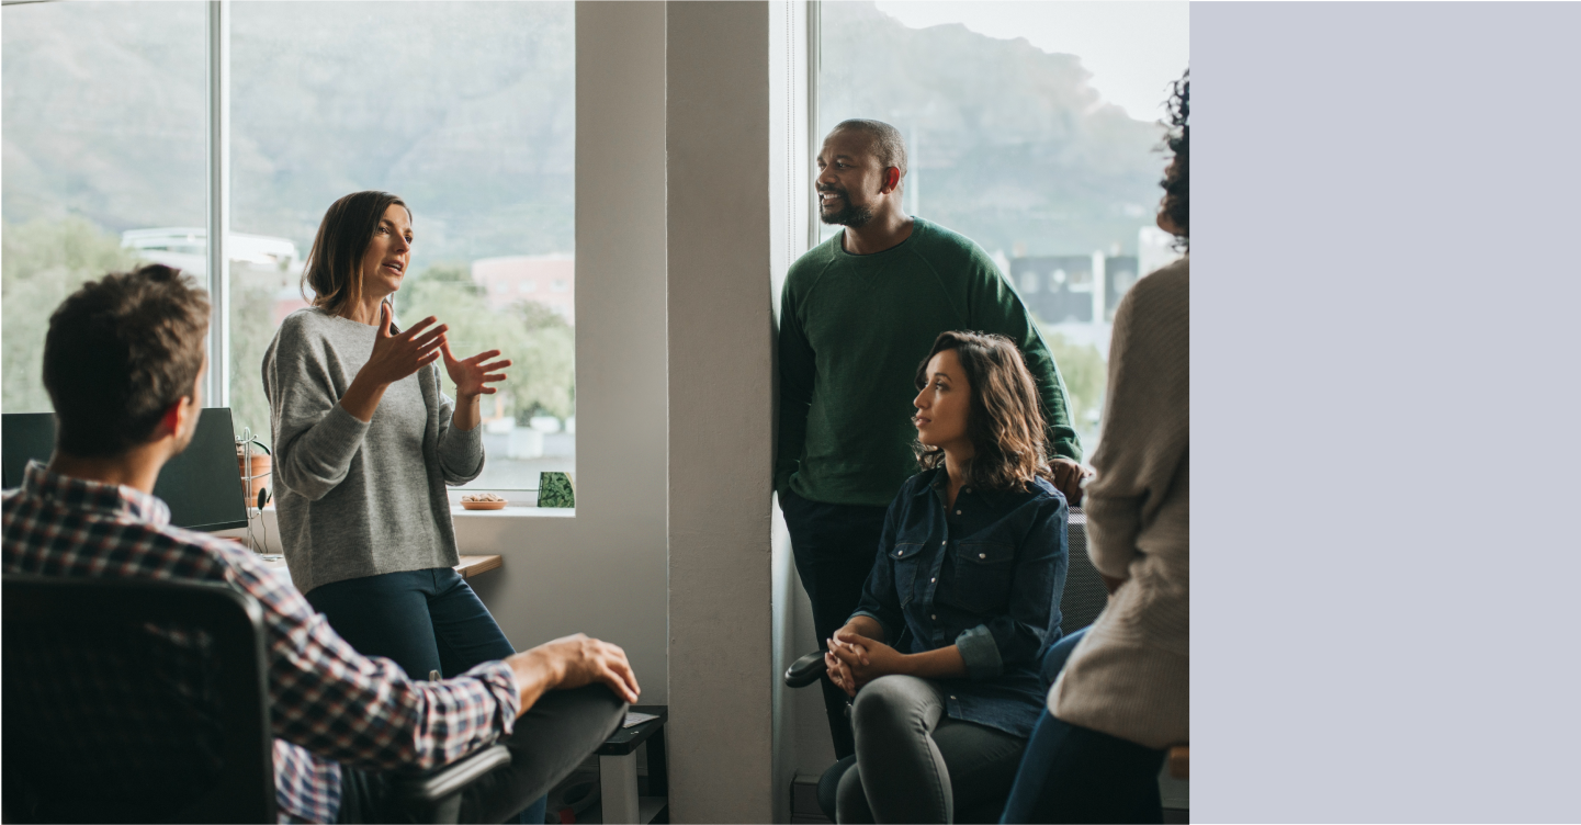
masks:
{"label": "gray knit sweater on the standing, gesturing woman", "polygon": [[264,354],[280,542],[302,593],[458,561],[444,485],[482,473],[482,427],[451,427],[438,364],[391,384],[368,424],[346,412],[340,397],[376,332],[297,310]]}

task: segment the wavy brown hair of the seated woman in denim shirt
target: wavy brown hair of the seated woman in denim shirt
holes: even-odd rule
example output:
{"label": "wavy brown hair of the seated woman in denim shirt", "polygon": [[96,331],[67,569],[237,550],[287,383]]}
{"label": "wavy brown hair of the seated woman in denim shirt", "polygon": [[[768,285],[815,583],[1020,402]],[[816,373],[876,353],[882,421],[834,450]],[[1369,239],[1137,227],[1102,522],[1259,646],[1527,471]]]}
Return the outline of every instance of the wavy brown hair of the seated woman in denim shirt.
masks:
{"label": "wavy brown hair of the seated woman in denim shirt", "polygon": [[[945,349],[955,351],[972,389],[966,435],[975,455],[966,468],[966,482],[988,490],[1026,490],[1032,479],[1051,479],[1037,384],[1015,343],[1004,335],[939,333],[917,367],[917,392],[928,386],[928,362]],[[944,465],[941,447],[917,441],[912,450],[923,469]]]}

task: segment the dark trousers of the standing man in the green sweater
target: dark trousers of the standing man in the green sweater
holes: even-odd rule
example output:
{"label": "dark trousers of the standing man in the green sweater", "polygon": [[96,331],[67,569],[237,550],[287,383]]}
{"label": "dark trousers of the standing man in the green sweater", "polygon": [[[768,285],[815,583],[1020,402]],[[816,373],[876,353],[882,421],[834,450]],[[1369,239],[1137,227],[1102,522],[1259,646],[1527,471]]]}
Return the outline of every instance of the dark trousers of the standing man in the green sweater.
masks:
{"label": "dark trousers of the standing man in the green sweater", "polygon": [[[873,572],[873,558],[884,536],[884,514],[889,507],[858,504],[824,504],[808,501],[792,492],[779,496],[779,509],[786,515],[790,533],[790,552],[795,555],[795,572],[813,602],[813,629],[817,631],[817,646],[828,646],[828,637],[846,626],[851,613],[862,601],[862,585]],[[889,639],[890,645],[896,640]],[[824,710],[828,714],[828,732],[835,740],[835,757],[844,759],[857,752],[857,740],[846,719],[849,697],[828,676],[819,680],[824,688]]]}

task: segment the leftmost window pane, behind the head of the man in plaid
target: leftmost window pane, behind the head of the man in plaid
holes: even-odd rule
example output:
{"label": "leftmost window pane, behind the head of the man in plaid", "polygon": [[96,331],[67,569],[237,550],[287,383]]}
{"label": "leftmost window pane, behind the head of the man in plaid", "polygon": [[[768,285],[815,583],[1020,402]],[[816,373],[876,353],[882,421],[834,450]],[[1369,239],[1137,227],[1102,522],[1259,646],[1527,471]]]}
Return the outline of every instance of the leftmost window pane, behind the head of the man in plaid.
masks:
{"label": "leftmost window pane, behind the head of the man in plaid", "polygon": [[[206,9],[204,0],[0,9],[6,412],[49,411],[49,313],[84,280],[131,266],[138,251],[122,232],[204,226]],[[201,232],[196,243],[201,261]]]}

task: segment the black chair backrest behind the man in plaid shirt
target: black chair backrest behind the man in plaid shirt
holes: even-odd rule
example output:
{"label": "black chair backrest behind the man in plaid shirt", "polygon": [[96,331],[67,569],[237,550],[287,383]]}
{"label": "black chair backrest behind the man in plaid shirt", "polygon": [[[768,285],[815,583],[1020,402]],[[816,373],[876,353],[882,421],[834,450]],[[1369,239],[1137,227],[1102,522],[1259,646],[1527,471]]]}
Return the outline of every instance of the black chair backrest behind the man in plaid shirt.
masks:
{"label": "black chair backrest behind the man in plaid shirt", "polygon": [[253,597],[5,575],[0,612],[6,823],[275,822]]}

